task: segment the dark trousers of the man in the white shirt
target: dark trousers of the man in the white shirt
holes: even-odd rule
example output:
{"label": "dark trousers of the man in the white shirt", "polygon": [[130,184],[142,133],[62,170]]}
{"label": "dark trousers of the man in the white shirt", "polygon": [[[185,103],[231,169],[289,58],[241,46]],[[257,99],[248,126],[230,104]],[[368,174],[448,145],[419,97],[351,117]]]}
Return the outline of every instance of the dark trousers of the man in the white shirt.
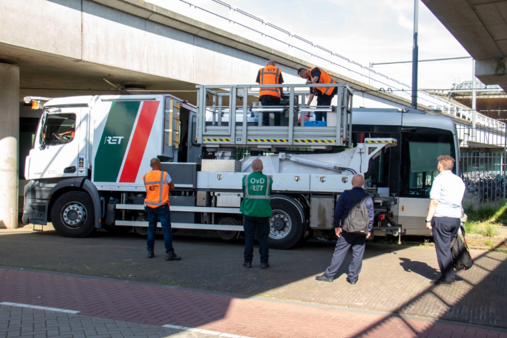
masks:
{"label": "dark trousers of the man in the white shirt", "polygon": [[433,242],[437,250],[437,260],[439,262],[442,276],[439,278],[445,282],[451,282],[454,278],[454,264],[451,253],[451,240],[459,229],[459,218],[453,217],[433,217],[431,227],[433,227]]}

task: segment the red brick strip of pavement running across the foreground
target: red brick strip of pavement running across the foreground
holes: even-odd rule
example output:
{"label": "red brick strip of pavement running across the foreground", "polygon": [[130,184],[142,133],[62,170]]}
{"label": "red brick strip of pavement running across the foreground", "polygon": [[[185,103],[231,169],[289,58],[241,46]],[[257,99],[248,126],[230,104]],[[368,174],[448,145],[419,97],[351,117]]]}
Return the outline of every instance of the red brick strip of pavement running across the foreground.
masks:
{"label": "red brick strip of pavement running across the foreground", "polygon": [[507,338],[507,333],[220,293],[0,269],[0,302],[78,310],[141,324],[250,337]]}

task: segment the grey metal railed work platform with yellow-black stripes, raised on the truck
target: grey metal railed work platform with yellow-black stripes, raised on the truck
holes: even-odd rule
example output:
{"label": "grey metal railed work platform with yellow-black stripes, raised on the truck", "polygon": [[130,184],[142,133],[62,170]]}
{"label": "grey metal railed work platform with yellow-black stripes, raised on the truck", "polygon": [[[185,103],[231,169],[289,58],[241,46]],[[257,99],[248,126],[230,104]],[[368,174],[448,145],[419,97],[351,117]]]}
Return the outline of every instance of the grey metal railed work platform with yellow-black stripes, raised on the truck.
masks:
{"label": "grey metal railed work platform with yellow-black stripes, raised on the truck", "polygon": [[[346,84],[311,86],[337,87],[337,103],[306,105],[310,85],[305,84],[269,85],[284,90],[279,106],[260,105],[259,91],[266,85],[197,86],[197,142],[220,147],[351,147],[352,90]],[[327,113],[327,126],[305,126],[303,117],[316,111]],[[280,114],[281,125],[263,126],[262,113]]]}

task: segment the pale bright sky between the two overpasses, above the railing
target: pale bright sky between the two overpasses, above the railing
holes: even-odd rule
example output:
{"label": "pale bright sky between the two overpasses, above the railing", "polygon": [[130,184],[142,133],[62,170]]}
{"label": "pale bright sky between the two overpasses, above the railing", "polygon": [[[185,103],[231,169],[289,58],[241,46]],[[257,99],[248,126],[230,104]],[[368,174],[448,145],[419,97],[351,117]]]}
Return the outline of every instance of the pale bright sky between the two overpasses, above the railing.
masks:
{"label": "pale bright sky between the two overpasses, above the railing", "polygon": [[[412,59],[413,0],[226,0],[265,21],[368,66]],[[454,36],[419,2],[419,59],[469,56]],[[375,65],[412,83],[412,64]],[[448,90],[472,80],[472,60],[419,63],[420,89]]]}

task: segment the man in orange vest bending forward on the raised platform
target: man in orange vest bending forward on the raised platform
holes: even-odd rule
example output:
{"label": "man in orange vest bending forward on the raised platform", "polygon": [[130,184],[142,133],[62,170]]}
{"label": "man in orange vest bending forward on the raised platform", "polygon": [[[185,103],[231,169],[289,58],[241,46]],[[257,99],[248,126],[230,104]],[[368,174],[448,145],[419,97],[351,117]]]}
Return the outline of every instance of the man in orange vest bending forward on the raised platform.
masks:
{"label": "man in orange vest bending forward on the raised platform", "polygon": [[[319,69],[318,67],[310,69],[299,68],[298,75],[301,78],[306,79],[307,85],[312,83],[336,83],[327,72]],[[307,105],[310,105],[313,101],[313,97],[317,96],[317,106],[331,106],[331,100],[336,93],[338,93],[337,87],[310,87],[310,96],[308,97]],[[315,111],[315,121],[322,121],[322,117],[324,118],[324,121],[327,121],[328,113],[325,111]]]}

